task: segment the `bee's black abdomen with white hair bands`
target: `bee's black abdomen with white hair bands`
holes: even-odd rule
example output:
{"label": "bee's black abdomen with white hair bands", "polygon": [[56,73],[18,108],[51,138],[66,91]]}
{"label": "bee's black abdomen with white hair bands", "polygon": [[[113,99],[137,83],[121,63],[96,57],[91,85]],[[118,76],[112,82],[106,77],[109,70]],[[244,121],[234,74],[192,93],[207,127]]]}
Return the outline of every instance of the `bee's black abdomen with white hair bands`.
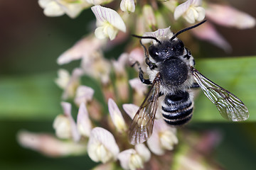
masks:
{"label": "bee's black abdomen with white hair bands", "polygon": [[191,120],[193,101],[187,91],[166,95],[162,104],[162,115],[169,125],[183,125]]}

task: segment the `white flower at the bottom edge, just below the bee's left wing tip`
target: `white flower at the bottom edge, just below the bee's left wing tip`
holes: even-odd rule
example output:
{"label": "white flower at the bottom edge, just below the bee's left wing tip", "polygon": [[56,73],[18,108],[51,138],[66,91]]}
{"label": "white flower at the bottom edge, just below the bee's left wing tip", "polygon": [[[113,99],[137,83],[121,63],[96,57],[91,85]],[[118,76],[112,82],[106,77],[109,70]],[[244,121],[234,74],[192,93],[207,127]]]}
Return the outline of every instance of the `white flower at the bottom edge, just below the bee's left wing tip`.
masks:
{"label": "white flower at the bottom edge, just below the bee's left wing tip", "polygon": [[144,162],[151,157],[149,149],[143,144],[135,145],[135,149],[127,149],[118,154],[118,159],[123,169],[142,169]]}

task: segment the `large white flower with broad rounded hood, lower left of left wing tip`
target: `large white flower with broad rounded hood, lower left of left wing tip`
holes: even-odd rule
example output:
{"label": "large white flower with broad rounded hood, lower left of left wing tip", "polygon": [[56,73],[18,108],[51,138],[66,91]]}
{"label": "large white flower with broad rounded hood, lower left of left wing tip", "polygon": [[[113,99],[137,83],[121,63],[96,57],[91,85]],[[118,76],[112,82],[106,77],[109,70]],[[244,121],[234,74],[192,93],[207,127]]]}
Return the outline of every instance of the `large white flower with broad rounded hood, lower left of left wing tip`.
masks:
{"label": "large white flower with broad rounded hood, lower left of left wing tip", "polygon": [[87,145],[88,155],[94,162],[106,163],[117,159],[119,147],[111,132],[104,128],[93,128]]}

